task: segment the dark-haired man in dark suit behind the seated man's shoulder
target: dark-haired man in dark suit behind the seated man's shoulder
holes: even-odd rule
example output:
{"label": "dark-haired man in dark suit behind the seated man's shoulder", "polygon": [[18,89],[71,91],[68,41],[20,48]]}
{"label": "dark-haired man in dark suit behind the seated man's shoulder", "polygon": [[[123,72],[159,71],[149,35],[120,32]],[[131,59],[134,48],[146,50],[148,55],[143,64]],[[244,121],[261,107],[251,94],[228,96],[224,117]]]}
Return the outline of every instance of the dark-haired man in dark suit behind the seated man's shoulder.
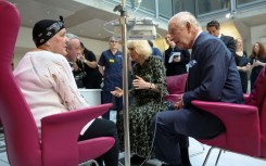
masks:
{"label": "dark-haired man in dark suit behind the seated man's shoulder", "polygon": [[220,33],[220,24],[217,21],[211,21],[206,25],[208,34],[220,38],[221,41],[226,44],[226,47],[231,51],[232,54],[236,52],[236,43],[235,39],[231,36],[225,36]]}

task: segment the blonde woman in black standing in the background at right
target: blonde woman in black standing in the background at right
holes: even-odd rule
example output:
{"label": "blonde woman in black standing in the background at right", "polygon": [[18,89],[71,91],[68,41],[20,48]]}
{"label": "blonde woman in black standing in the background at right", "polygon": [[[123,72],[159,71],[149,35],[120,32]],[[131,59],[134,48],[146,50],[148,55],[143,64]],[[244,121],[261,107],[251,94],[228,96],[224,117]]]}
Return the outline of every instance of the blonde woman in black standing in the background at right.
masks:
{"label": "blonde woman in black standing in the background at right", "polygon": [[243,41],[242,39],[236,39],[236,52],[235,52],[235,60],[237,64],[237,68],[239,71],[242,91],[246,93],[248,91],[248,73],[250,71],[250,59],[248,58],[246,52],[243,50]]}

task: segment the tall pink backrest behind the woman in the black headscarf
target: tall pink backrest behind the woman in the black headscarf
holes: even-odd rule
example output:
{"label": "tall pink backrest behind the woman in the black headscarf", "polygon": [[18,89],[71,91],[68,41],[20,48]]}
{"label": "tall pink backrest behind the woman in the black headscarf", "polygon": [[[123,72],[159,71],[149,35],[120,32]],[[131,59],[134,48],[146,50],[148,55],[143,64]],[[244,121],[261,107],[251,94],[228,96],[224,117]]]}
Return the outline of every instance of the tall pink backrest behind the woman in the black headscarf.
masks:
{"label": "tall pink backrest behind the woman in the black headscarf", "polygon": [[39,166],[41,154],[37,126],[11,67],[21,24],[20,13],[5,0],[0,0],[0,117],[9,162],[12,166]]}

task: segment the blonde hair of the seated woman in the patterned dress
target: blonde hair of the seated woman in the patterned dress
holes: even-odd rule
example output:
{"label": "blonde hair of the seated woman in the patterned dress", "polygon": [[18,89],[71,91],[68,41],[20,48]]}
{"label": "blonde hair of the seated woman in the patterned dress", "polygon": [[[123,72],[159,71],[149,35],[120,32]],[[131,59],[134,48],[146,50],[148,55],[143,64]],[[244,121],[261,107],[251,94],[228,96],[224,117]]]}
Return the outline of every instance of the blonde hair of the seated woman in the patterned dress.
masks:
{"label": "blonde hair of the seated woman in the patterned dress", "polygon": [[134,49],[144,60],[152,54],[152,48],[148,40],[128,40],[127,48]]}

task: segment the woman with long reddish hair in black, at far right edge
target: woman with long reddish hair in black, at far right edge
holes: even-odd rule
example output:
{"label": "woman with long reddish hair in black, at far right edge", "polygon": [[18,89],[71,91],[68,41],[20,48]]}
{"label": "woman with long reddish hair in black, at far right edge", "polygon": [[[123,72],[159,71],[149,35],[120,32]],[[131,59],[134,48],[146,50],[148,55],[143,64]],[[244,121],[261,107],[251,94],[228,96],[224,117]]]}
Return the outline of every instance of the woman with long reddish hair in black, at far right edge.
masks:
{"label": "woman with long reddish hair in black, at far right edge", "polygon": [[256,81],[256,78],[266,64],[265,47],[262,42],[255,42],[252,48],[251,59],[251,90]]}

